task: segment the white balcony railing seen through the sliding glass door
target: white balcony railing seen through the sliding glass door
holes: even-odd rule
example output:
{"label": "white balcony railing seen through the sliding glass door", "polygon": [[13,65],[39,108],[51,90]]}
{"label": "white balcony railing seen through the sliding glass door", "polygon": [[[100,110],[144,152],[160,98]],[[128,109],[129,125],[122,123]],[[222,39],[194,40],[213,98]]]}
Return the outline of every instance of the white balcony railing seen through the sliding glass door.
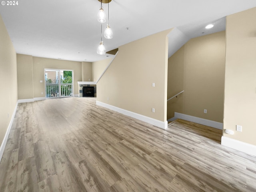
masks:
{"label": "white balcony railing seen through the sliding glass door", "polygon": [[54,98],[54,97],[67,97],[72,96],[72,83],[60,84],[46,84],[45,86],[45,97]]}

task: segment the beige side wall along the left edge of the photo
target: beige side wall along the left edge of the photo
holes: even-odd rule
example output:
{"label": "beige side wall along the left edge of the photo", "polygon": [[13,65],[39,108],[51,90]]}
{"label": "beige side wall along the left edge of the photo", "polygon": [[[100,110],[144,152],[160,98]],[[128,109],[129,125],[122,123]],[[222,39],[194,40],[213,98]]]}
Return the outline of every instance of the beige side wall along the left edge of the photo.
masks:
{"label": "beige side wall along the left edge of the photo", "polygon": [[16,51],[0,15],[0,144],[18,100]]}

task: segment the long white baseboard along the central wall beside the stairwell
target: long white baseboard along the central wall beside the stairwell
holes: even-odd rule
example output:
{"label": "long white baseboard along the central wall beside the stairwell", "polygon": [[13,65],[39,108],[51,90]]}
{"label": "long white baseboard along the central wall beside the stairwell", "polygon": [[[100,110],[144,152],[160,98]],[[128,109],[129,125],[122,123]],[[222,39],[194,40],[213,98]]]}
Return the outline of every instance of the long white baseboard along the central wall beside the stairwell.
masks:
{"label": "long white baseboard along the central wall beside the stairwell", "polygon": [[138,113],[134,113],[134,112],[122,109],[122,108],[118,108],[118,107],[115,107],[115,106],[112,106],[112,105],[109,105],[109,104],[106,104],[106,103],[102,103],[100,101],[96,101],[96,105],[108,108],[110,110],[119,112],[119,113],[127,115],[129,117],[132,117],[132,118],[144,121],[146,123],[152,124],[154,126],[162,128],[162,129],[165,129],[168,126],[167,125],[168,124],[167,121],[163,122],[163,121],[160,121],[160,120],[156,120],[156,119],[153,119],[153,118],[150,118],[150,117],[138,114]]}

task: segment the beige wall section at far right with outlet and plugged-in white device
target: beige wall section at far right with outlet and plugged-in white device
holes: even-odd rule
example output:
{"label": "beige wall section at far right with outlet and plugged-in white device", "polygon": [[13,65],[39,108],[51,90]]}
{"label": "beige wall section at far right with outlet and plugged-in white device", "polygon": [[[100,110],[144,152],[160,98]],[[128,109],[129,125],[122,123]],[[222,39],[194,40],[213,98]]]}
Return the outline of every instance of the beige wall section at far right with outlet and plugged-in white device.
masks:
{"label": "beige wall section at far right with outlet and plugged-in white device", "polygon": [[[256,8],[226,19],[224,136],[256,145]],[[236,131],[242,126],[242,132]]]}

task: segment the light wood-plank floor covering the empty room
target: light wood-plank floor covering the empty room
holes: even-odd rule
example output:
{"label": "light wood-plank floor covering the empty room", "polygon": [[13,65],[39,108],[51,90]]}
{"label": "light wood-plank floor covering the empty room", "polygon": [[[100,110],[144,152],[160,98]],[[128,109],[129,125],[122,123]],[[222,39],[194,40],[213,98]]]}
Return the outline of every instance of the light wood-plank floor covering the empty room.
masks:
{"label": "light wood-plank floor covering the empty room", "polygon": [[0,162],[1,192],[255,192],[256,157],[220,145],[221,130],[166,130],[95,98],[18,105]]}

